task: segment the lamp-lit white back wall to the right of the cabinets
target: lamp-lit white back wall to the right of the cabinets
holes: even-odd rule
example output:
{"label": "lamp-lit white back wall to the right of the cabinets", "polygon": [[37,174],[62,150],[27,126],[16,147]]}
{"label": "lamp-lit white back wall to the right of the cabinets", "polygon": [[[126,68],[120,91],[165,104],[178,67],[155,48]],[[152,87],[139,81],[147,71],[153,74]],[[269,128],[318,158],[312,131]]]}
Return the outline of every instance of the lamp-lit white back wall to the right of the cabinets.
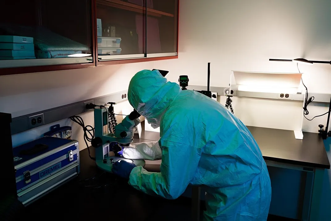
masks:
{"label": "lamp-lit white back wall to the right of the cabinets", "polygon": [[[232,70],[297,73],[292,62],[269,58],[331,60],[330,0],[181,0],[179,59],[155,62],[177,82],[188,75],[191,85],[228,86]],[[299,65],[309,92],[331,93],[331,65]],[[300,102],[233,98],[236,115],[249,126],[298,130]],[[224,103],[224,102],[223,102]],[[310,104],[308,118],[327,112]],[[319,104],[317,104],[319,105]],[[326,105],[324,105],[326,106]],[[307,120],[303,130],[317,132],[326,115]]]}

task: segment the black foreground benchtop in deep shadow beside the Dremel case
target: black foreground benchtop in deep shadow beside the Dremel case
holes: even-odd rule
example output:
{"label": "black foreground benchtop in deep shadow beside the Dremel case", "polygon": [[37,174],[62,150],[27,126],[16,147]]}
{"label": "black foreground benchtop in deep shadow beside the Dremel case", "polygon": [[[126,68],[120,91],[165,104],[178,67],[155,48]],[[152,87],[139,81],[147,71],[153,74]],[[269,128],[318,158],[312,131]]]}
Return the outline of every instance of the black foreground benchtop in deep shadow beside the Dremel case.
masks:
{"label": "black foreground benchtop in deep shadow beside the Dremel case", "polygon": [[[102,221],[191,219],[190,198],[167,200],[149,196],[133,189],[127,180],[99,170],[89,158],[87,149],[80,151],[79,155],[79,176],[28,205],[26,217],[33,220]],[[91,155],[94,155],[93,148]]]}

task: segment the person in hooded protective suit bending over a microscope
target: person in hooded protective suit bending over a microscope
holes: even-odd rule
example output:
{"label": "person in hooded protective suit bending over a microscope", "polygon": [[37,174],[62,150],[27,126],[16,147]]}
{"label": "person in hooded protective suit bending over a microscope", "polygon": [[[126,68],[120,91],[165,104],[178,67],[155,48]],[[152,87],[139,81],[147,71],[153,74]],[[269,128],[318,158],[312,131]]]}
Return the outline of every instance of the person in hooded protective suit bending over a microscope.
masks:
{"label": "person in hooded protective suit bending over a microscope", "polygon": [[266,220],[271,185],[258,144],[228,109],[207,96],[181,90],[158,70],[143,70],[130,81],[128,100],[160,140],[123,149],[129,159],[162,158],[160,173],[125,161],[113,172],[137,190],[167,199],[191,185],[206,189],[204,220]]}

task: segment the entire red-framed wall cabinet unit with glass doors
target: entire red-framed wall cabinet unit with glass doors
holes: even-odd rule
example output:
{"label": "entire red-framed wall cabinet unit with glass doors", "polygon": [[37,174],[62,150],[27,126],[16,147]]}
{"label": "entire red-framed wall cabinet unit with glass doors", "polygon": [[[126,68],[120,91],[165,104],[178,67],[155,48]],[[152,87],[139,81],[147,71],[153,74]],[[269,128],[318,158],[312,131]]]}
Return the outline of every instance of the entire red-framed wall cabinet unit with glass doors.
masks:
{"label": "entire red-framed wall cabinet unit with glass doors", "polygon": [[5,1],[0,75],[177,58],[178,0]]}

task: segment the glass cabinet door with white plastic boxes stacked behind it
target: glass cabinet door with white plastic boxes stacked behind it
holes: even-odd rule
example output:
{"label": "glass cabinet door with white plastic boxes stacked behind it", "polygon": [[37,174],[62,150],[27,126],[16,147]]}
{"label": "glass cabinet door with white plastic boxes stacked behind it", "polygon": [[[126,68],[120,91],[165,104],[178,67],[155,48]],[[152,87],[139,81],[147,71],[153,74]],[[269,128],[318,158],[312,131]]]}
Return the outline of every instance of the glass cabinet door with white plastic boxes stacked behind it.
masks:
{"label": "glass cabinet door with white plastic boxes stacked behind it", "polygon": [[146,0],[96,0],[98,61],[144,58]]}

